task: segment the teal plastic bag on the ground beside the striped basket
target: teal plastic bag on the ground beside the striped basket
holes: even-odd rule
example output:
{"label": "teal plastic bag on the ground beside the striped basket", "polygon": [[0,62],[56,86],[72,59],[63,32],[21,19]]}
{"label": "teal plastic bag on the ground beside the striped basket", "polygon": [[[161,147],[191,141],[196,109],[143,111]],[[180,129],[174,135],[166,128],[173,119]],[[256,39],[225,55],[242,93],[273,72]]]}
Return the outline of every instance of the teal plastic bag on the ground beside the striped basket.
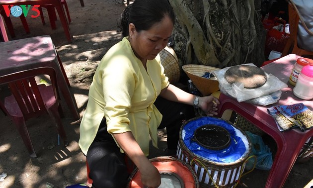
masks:
{"label": "teal plastic bag on the ground beside the striped basket", "polygon": [[[249,136],[252,148],[250,156],[256,156],[255,168],[259,170],[270,170],[273,165],[273,158],[270,148],[264,144],[262,137],[245,131]],[[255,159],[251,158],[245,165],[245,170],[251,170],[255,163]]]}

